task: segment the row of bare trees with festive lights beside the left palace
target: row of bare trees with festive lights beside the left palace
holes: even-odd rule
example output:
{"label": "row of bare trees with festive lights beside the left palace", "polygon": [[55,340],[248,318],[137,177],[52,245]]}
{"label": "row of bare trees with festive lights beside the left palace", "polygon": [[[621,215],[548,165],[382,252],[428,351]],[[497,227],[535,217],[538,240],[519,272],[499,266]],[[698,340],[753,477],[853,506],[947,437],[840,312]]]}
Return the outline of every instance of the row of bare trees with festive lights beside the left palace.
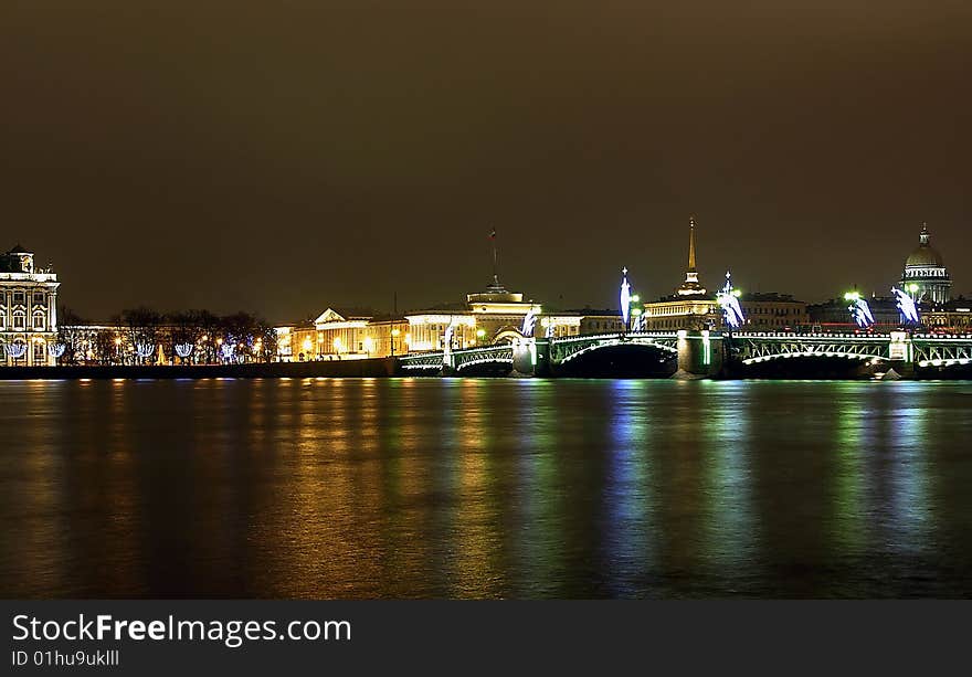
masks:
{"label": "row of bare trees with festive lights beside the left palace", "polygon": [[62,364],[270,362],[277,355],[273,326],[242,310],[160,313],[141,306],[123,310],[107,325],[94,325],[67,307],[57,315]]}

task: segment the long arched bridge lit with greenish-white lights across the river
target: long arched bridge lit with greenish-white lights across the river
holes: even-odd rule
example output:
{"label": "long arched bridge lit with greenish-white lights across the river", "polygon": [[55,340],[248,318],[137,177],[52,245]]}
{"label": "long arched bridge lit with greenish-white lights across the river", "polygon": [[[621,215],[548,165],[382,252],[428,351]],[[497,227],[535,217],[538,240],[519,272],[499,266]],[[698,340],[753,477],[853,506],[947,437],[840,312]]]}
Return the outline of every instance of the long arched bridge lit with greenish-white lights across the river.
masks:
{"label": "long arched bridge lit with greenish-white lights across the river", "polygon": [[736,363],[742,367],[773,360],[837,358],[862,363],[887,363],[900,372],[918,368],[972,364],[972,335],[912,334],[795,334],[719,331],[632,331],[591,334],[561,339],[520,337],[513,342],[452,351],[401,356],[405,375],[475,375],[517,372],[558,375],[566,367],[608,349],[623,355],[638,351],[659,362],[677,360],[679,371],[715,377]]}

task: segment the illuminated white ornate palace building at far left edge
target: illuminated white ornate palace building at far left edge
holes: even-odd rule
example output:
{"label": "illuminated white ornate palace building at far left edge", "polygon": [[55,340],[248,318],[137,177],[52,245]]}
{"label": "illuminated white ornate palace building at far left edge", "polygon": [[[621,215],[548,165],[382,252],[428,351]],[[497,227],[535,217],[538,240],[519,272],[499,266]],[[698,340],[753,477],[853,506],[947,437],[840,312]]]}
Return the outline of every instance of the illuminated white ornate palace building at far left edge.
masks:
{"label": "illuminated white ornate palace building at far left edge", "polygon": [[0,366],[57,363],[57,275],[17,245],[0,254]]}

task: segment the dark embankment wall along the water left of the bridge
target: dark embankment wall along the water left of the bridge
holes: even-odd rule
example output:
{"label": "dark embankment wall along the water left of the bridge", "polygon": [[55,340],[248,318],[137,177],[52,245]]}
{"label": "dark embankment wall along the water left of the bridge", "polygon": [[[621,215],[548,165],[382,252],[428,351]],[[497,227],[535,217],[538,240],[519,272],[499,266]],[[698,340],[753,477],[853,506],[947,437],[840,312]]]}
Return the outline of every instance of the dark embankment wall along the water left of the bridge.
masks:
{"label": "dark embankment wall along the water left of the bridge", "polygon": [[393,358],[251,364],[3,367],[0,380],[32,379],[307,379],[395,375]]}

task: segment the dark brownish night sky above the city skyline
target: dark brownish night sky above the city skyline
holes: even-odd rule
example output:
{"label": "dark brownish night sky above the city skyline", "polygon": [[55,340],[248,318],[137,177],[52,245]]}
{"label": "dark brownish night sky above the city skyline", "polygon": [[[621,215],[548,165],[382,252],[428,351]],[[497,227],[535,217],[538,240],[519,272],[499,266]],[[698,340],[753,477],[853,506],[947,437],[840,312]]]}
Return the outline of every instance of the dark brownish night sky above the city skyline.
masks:
{"label": "dark brownish night sky above the city skyline", "polygon": [[[4,0],[0,243],[63,300],[390,309],[490,275],[972,293],[972,2]],[[9,244],[7,244],[9,242]],[[562,300],[561,300],[562,299]]]}

